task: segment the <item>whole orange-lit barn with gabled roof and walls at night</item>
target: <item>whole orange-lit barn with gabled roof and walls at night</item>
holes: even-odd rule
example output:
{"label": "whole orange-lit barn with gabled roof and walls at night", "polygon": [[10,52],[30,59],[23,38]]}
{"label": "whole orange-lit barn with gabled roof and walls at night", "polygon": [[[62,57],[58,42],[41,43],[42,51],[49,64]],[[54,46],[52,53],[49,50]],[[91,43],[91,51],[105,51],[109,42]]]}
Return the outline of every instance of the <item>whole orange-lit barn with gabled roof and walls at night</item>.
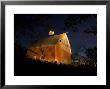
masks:
{"label": "whole orange-lit barn with gabled roof and walls at night", "polygon": [[71,56],[67,33],[49,35],[47,38],[34,42],[26,51],[27,58],[57,64],[71,64]]}

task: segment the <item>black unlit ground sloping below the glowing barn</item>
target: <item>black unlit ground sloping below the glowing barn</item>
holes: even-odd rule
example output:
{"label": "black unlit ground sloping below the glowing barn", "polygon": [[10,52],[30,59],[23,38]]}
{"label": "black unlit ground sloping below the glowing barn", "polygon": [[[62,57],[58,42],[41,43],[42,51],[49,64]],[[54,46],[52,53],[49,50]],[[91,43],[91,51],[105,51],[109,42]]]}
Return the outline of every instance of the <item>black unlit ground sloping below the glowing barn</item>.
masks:
{"label": "black unlit ground sloping below the glowing barn", "polygon": [[51,64],[15,55],[15,76],[96,76],[97,68],[90,66]]}

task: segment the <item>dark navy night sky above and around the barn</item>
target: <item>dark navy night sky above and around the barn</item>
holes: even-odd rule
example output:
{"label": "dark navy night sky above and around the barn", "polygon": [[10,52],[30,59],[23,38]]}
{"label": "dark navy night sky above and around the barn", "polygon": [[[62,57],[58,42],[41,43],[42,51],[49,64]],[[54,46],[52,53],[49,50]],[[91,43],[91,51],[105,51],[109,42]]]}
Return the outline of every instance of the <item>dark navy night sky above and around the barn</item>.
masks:
{"label": "dark navy night sky above and around the barn", "polygon": [[14,41],[21,46],[29,47],[35,40],[48,36],[50,30],[55,34],[68,32],[74,53],[85,55],[85,48],[97,46],[97,33],[92,33],[97,32],[96,14],[14,15]]}

